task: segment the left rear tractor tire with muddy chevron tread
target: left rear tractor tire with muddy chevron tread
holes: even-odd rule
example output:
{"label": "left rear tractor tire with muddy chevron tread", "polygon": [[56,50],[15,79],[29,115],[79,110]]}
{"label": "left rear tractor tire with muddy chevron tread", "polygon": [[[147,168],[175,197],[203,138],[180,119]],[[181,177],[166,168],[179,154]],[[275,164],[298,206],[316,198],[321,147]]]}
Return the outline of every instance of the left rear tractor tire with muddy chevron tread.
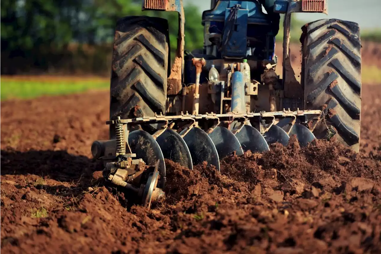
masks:
{"label": "left rear tractor tire with muddy chevron tread", "polygon": [[[169,50],[166,19],[129,16],[118,20],[112,57],[110,119],[165,112]],[[152,133],[157,124],[141,128]],[[110,138],[114,138],[112,126]]]}

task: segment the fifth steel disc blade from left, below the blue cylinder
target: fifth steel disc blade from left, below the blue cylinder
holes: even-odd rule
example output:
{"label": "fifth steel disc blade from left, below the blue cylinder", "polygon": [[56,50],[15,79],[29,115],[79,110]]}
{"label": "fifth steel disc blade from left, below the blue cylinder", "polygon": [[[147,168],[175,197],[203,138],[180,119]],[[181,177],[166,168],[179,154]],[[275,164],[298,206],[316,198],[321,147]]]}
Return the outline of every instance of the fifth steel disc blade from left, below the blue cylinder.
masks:
{"label": "fifth steel disc blade from left, below the blue cylinder", "polygon": [[269,151],[269,145],[267,145],[266,140],[262,134],[250,125],[244,125],[240,132],[236,133],[235,136],[241,143],[243,151],[263,152]]}

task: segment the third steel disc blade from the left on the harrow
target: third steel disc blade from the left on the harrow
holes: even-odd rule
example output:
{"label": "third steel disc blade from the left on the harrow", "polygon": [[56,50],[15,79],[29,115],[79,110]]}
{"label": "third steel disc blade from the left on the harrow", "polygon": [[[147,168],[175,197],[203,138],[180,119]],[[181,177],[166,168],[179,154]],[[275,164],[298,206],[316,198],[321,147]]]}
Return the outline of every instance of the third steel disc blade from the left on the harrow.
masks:
{"label": "third steel disc blade from the left on the harrow", "polygon": [[[185,130],[182,130],[182,135]],[[213,165],[219,171],[219,157],[216,146],[211,138],[202,129],[193,127],[187,135],[184,136],[184,141],[187,143],[189,151],[191,152],[193,165],[208,162],[208,165]]]}

